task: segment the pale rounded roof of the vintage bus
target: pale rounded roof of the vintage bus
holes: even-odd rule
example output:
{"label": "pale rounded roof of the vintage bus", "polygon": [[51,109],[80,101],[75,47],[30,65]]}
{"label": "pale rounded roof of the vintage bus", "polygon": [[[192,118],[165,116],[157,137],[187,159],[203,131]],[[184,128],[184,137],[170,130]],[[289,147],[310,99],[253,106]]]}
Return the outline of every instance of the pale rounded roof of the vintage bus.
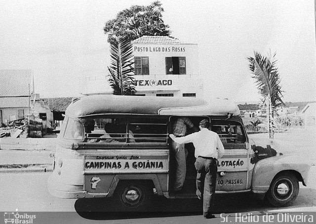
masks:
{"label": "pale rounded roof of the vintage bus", "polygon": [[239,115],[235,103],[229,100],[206,101],[190,97],[90,95],[74,100],[66,110],[72,117],[101,114],[148,115]]}

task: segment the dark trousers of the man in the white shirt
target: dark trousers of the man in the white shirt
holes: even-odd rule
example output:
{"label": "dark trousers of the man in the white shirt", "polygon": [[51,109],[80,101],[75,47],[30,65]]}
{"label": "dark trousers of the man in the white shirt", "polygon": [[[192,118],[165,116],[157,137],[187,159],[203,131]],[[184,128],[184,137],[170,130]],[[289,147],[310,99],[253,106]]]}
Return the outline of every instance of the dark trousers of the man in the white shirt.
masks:
{"label": "dark trousers of the man in the white shirt", "polygon": [[203,198],[203,215],[212,214],[212,204],[216,188],[217,164],[216,159],[197,157],[197,197]]}

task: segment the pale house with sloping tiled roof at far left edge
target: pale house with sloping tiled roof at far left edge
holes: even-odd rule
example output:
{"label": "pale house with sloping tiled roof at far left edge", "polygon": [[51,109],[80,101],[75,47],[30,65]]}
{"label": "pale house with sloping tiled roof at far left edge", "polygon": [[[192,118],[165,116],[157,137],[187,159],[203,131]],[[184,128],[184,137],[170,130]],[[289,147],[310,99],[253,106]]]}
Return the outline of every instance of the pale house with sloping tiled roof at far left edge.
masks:
{"label": "pale house with sloping tiled roof at far left edge", "polygon": [[0,122],[24,118],[33,92],[32,70],[0,70]]}

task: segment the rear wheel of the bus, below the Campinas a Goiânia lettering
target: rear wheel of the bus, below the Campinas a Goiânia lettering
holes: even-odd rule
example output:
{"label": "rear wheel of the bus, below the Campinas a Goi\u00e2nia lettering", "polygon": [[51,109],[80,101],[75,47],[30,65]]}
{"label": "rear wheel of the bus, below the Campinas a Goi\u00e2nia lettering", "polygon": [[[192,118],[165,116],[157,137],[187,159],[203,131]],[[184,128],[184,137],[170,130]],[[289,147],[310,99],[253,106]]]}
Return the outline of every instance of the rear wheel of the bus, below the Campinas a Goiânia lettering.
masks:
{"label": "rear wheel of the bus, below the Campinas a Goi\u00e2nia lettering", "polygon": [[119,210],[125,212],[148,210],[153,198],[153,187],[146,180],[120,180],[115,190]]}

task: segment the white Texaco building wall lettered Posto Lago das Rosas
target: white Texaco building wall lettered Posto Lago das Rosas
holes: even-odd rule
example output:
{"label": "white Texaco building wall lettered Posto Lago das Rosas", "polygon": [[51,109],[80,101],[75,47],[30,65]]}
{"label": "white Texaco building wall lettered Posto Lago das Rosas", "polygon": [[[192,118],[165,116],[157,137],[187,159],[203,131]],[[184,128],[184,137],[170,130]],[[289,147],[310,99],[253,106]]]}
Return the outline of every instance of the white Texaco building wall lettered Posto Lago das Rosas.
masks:
{"label": "white Texaco building wall lettered Posto Lago das Rosas", "polygon": [[[193,44],[134,44],[134,57],[148,57],[149,75],[136,75],[137,94],[193,93],[203,96],[203,80],[199,76],[198,49]],[[166,57],[185,57],[186,74],[166,74]],[[192,94],[191,94],[192,95]]]}

